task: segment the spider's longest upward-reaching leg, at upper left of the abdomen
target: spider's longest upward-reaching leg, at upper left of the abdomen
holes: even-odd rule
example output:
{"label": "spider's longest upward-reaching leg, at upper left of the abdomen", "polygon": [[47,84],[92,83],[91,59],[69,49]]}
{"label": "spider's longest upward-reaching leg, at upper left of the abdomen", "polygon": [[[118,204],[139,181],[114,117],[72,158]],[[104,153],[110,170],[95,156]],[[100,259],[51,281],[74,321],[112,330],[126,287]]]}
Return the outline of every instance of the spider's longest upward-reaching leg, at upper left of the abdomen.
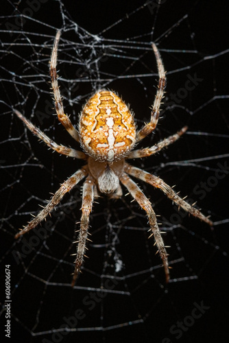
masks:
{"label": "spider's longest upward-reaching leg, at upper left of the abdomen", "polygon": [[71,134],[71,137],[75,139],[75,141],[79,142],[80,137],[77,130],[74,128],[71,120],[67,115],[64,114],[64,108],[62,104],[62,99],[59,91],[58,86],[58,75],[56,73],[56,64],[57,64],[57,54],[58,54],[58,43],[60,40],[60,30],[56,33],[56,38],[53,45],[53,50],[51,51],[51,61],[50,61],[50,77],[51,77],[51,87],[53,88],[53,95],[55,99],[55,108],[56,113],[58,115],[58,119],[60,123],[64,126],[64,128]]}

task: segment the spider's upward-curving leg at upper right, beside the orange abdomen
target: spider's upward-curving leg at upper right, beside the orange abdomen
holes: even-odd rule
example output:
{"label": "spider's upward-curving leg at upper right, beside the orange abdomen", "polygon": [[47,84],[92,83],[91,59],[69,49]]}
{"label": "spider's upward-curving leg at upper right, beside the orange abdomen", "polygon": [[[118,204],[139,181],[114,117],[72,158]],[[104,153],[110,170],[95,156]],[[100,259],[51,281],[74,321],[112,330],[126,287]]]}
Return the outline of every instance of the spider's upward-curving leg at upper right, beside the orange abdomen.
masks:
{"label": "spider's upward-curving leg at upper right, beside the orange abdomen", "polygon": [[141,141],[143,138],[145,138],[148,134],[150,134],[156,128],[159,115],[160,115],[160,103],[165,93],[165,84],[166,84],[165,69],[164,69],[158,48],[156,47],[154,43],[152,44],[152,48],[154,49],[154,54],[156,56],[156,62],[158,65],[158,75],[159,75],[158,90],[156,92],[156,97],[154,99],[154,105],[153,105],[152,113],[151,113],[151,120],[149,121],[149,123],[145,124],[145,126],[143,126],[143,128],[141,128],[141,130],[139,130],[138,133],[136,134],[136,143],[138,141]]}

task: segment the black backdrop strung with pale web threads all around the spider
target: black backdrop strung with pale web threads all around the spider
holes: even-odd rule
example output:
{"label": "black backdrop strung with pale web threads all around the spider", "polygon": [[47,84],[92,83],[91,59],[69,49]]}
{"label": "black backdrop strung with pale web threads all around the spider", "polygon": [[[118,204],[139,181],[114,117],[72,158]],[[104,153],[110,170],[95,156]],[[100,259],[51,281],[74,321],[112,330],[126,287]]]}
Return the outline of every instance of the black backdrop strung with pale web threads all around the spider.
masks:
{"label": "black backdrop strung with pale web threads all around the spider", "polygon": [[[43,343],[227,342],[229,49],[221,17],[228,6],[224,1],[77,2],[3,1],[1,342],[6,342],[5,265],[11,272],[11,342],[19,337]],[[168,285],[148,239],[145,213],[130,195],[117,201],[101,197],[94,204],[89,258],[74,289],[71,255],[80,186],[46,222],[14,240],[30,213],[45,206],[49,192],[82,166],[38,144],[13,114],[20,110],[57,143],[79,149],[53,110],[49,60],[57,29],[62,29],[60,91],[75,125],[86,99],[108,88],[131,104],[138,128],[143,126],[158,80],[150,43],[160,49],[167,93],[156,131],[139,147],[152,146],[184,125],[189,130],[160,154],[131,163],[176,185],[215,223],[209,228],[138,182],[171,246]]]}

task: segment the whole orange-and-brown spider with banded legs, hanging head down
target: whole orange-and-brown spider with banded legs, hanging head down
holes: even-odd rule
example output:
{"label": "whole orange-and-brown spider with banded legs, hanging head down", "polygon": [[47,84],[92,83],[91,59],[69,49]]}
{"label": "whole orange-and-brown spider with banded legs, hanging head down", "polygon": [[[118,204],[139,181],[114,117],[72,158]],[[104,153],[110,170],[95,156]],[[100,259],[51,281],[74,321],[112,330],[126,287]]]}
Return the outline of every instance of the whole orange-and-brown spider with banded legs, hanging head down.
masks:
{"label": "whole orange-and-brown spider with banded legs, hanging head down", "polygon": [[151,119],[143,128],[136,131],[136,126],[133,119],[133,114],[123,100],[112,91],[101,89],[97,91],[84,106],[80,114],[80,122],[78,130],[71,123],[70,118],[64,114],[64,108],[60,91],[58,87],[58,75],[56,72],[58,43],[60,40],[60,30],[56,33],[56,38],[53,43],[50,61],[50,76],[51,87],[53,90],[56,113],[60,123],[71,134],[75,141],[79,142],[83,151],[75,150],[71,147],[58,145],[52,141],[39,128],[33,125],[31,121],[26,119],[18,110],[14,113],[25,123],[25,126],[32,131],[39,139],[43,140],[51,149],[56,150],[59,154],[80,158],[86,161],[86,164],[75,171],[66,181],[60,185],[60,188],[52,196],[51,200],[42,211],[27,224],[15,238],[19,238],[29,230],[35,228],[47,215],[50,215],[54,207],[60,203],[65,193],[71,191],[78,182],[85,178],[82,192],[82,217],[80,221],[80,230],[77,241],[77,253],[75,259],[75,271],[73,273],[72,287],[75,285],[77,275],[80,272],[84,260],[86,249],[86,240],[88,239],[89,215],[92,211],[94,196],[98,193],[104,193],[110,198],[120,198],[122,196],[121,184],[128,189],[132,198],[138,202],[142,209],[145,210],[149,220],[149,231],[154,235],[155,244],[162,259],[162,264],[165,268],[165,278],[169,281],[169,263],[167,259],[167,251],[161,237],[156,214],[152,208],[152,204],[146,198],[145,194],[130,178],[138,178],[147,182],[158,189],[161,189],[165,195],[175,202],[179,207],[198,217],[210,226],[213,225],[208,217],[205,217],[199,210],[185,202],[178,196],[169,185],[161,178],[147,173],[142,169],[134,167],[125,162],[126,159],[143,158],[151,156],[156,152],[167,147],[169,144],[177,141],[187,127],[184,126],[176,134],[171,135],[152,147],[134,150],[136,143],[144,139],[148,134],[152,133],[158,123],[160,103],[165,93],[165,69],[162,64],[160,53],[154,43],[152,49],[156,56],[158,67],[158,89],[151,112]]}

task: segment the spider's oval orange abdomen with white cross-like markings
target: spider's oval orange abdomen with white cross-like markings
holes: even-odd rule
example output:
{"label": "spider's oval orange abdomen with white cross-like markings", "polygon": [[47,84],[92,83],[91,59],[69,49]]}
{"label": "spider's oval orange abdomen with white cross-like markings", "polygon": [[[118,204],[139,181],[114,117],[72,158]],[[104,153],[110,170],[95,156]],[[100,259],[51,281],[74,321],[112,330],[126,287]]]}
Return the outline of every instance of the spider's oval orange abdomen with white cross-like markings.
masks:
{"label": "spider's oval orange abdomen with white cross-like markings", "polygon": [[134,147],[133,115],[123,100],[111,91],[99,91],[82,110],[79,124],[84,152],[99,161],[117,161]]}

